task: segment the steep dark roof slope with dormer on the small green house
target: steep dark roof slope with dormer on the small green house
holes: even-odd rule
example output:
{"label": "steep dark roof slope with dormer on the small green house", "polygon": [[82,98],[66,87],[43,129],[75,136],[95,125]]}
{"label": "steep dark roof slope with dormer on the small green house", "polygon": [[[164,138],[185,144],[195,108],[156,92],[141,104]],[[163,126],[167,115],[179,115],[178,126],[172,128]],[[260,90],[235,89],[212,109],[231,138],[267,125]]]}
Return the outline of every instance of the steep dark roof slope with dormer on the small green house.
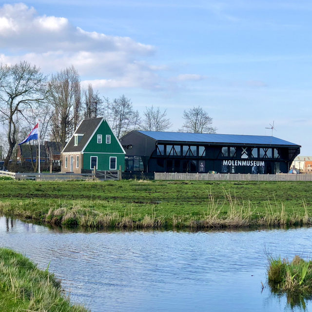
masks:
{"label": "steep dark roof slope with dormer on the small green house", "polygon": [[62,152],[63,153],[81,152],[83,147],[87,144],[93,132],[95,131],[95,129],[101,122],[101,120],[102,120],[102,117],[83,120],[75,131],[75,133],[77,134],[83,134],[81,141],[78,143],[77,146],[74,146],[75,136],[72,136],[72,138],[69,140],[68,144],[65,146]]}

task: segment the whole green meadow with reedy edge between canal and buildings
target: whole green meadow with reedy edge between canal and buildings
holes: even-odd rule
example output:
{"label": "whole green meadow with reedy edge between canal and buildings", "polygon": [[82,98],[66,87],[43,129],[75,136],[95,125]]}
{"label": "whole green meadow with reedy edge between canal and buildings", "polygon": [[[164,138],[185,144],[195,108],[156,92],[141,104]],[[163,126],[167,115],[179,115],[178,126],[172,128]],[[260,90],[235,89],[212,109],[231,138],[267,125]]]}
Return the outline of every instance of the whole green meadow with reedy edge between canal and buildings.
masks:
{"label": "whole green meadow with reedy edge between canal and buildings", "polygon": [[98,228],[303,225],[312,183],[0,181],[0,212]]}

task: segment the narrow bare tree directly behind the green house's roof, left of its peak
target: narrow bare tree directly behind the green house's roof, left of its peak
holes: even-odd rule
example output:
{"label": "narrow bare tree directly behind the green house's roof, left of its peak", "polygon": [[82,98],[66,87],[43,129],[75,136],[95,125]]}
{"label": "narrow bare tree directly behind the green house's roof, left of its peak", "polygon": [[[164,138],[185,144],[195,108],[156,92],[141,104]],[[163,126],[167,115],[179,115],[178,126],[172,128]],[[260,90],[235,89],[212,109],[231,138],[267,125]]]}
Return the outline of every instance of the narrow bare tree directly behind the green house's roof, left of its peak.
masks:
{"label": "narrow bare tree directly behind the green house's roof, left of its peak", "polygon": [[84,118],[97,118],[103,111],[103,100],[99,97],[98,91],[94,92],[92,84],[88,84],[87,90],[84,92]]}

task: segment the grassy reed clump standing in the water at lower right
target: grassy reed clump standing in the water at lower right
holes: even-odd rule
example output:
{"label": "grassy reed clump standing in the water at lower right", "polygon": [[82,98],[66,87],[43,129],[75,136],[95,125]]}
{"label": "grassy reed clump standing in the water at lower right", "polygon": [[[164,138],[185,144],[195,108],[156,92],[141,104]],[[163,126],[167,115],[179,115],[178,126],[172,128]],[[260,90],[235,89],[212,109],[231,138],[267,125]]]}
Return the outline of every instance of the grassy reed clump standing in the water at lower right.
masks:
{"label": "grassy reed clump standing in the water at lower right", "polygon": [[268,283],[273,292],[312,294],[312,261],[269,257]]}

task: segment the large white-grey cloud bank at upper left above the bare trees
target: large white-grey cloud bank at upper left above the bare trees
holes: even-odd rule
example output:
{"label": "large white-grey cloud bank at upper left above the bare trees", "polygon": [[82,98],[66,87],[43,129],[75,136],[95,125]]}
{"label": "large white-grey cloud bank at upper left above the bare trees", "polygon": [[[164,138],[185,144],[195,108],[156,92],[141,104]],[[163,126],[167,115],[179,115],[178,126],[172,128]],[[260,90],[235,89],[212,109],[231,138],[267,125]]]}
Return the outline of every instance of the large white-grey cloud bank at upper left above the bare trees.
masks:
{"label": "large white-grey cloud bank at upper left above the bare trees", "polygon": [[39,16],[23,3],[0,7],[0,63],[26,60],[45,72],[74,65],[80,75],[102,87],[158,88],[157,71],[143,61],[155,48],[129,37],[88,32],[64,17]]}

